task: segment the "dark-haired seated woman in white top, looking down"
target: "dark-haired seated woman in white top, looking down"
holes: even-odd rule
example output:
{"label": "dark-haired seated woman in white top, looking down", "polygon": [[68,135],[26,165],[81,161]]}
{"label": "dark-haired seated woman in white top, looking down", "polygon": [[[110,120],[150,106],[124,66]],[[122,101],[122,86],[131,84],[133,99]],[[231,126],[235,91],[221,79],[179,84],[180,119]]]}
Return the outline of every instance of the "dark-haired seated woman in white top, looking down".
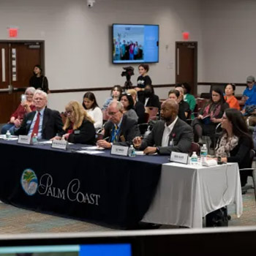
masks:
{"label": "dark-haired seated woman in white top, looking down", "polygon": [[95,95],[91,91],[83,95],[83,108],[94,120],[94,128],[96,130],[101,129],[103,124],[102,110],[99,108]]}

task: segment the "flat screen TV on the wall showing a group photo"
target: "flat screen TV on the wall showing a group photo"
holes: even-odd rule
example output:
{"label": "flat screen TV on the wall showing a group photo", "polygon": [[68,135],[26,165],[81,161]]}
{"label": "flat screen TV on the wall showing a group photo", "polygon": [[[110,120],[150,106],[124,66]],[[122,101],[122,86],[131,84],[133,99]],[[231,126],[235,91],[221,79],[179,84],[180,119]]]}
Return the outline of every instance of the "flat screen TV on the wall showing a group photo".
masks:
{"label": "flat screen TV on the wall showing a group photo", "polygon": [[113,63],[159,62],[159,25],[113,24]]}

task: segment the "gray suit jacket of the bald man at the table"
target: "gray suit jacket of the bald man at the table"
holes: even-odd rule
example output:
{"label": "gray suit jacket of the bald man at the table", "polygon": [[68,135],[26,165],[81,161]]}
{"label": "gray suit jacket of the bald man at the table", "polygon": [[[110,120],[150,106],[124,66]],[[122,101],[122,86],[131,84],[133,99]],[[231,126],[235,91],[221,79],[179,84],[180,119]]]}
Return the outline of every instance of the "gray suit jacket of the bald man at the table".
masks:
{"label": "gray suit jacket of the bald man at the table", "polygon": [[171,151],[189,152],[194,137],[192,127],[189,124],[178,118],[169,137],[168,145],[173,140],[173,146],[162,146],[164,129],[165,121],[157,121],[152,132],[142,141],[140,150],[144,150],[147,146],[158,146],[159,154],[170,154]]}

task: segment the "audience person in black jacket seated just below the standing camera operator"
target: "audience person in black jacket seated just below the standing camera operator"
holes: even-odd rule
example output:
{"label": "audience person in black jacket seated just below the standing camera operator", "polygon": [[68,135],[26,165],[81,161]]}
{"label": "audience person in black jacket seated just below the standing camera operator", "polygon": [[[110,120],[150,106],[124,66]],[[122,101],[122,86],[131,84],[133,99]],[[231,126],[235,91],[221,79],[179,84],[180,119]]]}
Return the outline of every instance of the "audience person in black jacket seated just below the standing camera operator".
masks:
{"label": "audience person in black jacket seated just below the standing camera operator", "polygon": [[154,87],[152,85],[147,85],[145,90],[141,94],[138,94],[138,100],[145,107],[161,108],[159,97],[154,94]]}

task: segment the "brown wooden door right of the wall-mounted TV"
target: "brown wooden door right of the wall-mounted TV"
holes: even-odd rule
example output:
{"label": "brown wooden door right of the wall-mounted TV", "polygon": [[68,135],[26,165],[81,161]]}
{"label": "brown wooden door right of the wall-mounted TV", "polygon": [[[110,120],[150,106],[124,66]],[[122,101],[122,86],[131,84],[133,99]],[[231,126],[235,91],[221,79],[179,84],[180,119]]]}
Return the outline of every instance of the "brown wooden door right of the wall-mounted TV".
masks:
{"label": "brown wooden door right of the wall-mounted TV", "polygon": [[176,83],[189,83],[197,94],[197,42],[176,42]]}

